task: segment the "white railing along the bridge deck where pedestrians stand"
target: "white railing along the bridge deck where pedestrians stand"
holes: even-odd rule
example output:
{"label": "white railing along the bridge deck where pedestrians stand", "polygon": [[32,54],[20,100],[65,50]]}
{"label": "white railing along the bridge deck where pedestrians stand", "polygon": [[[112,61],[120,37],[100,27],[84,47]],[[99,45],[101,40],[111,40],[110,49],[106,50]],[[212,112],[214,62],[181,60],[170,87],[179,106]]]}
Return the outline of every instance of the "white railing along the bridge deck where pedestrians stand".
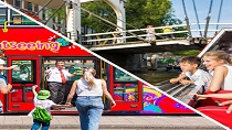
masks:
{"label": "white railing along the bridge deck where pedestrians stand", "polygon": [[[194,25],[204,25],[205,23],[191,23],[190,24],[190,29]],[[209,25],[232,25],[232,23],[209,23]],[[165,28],[171,28],[175,31],[172,32],[168,32],[168,33],[162,33],[162,29]],[[178,31],[178,28],[182,28],[183,30]],[[176,37],[177,34],[186,34],[188,36],[188,30],[187,30],[187,24],[179,24],[179,25],[169,25],[169,26],[156,26],[156,28],[151,28],[156,31],[156,37],[160,37],[160,39],[165,39],[166,36],[164,35],[170,35],[170,34],[175,34]],[[113,41],[116,41],[116,43],[125,43],[126,41],[143,41],[146,42],[146,36],[150,35],[147,34],[146,31],[150,30],[150,29],[136,29],[136,30],[123,30],[123,31],[114,31],[114,32],[105,32],[105,33],[94,33],[94,34],[85,34],[82,35],[82,44],[86,44],[86,45],[104,45],[104,44],[112,44]],[[220,30],[220,29],[219,29]],[[219,30],[208,30],[209,32],[218,32]],[[204,31],[199,30],[199,29],[193,29],[190,30],[191,32],[199,32],[199,31]],[[114,37],[113,34],[118,34],[119,36]],[[137,40],[136,40],[137,39]],[[118,41],[123,41],[123,42],[118,42]]]}

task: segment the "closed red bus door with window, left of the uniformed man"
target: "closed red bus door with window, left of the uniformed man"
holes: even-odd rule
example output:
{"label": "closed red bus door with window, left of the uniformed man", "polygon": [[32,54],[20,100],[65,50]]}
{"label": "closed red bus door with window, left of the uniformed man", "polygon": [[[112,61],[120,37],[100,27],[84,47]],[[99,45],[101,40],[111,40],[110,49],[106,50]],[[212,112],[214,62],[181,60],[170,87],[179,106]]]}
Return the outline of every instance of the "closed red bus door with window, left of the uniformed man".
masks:
{"label": "closed red bus door with window, left of the uniformed man", "polygon": [[17,68],[8,71],[8,80],[13,86],[13,93],[7,98],[7,111],[30,111],[33,109],[32,86],[38,85],[40,89],[40,57],[9,57],[8,66],[18,65]]}

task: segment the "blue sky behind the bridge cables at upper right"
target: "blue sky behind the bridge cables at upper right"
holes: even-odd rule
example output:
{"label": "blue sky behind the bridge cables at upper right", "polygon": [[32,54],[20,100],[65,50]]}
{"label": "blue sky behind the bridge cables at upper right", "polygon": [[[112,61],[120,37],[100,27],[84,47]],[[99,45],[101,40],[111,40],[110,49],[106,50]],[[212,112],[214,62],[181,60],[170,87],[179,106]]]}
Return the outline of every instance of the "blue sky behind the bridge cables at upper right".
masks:
{"label": "blue sky behind the bridge cables at upper right", "polygon": [[[175,11],[175,15],[184,21],[184,10],[182,6],[182,0],[170,0],[172,2],[172,8]],[[197,17],[193,8],[193,2],[196,3],[199,23],[207,23],[207,17],[210,9],[210,2],[211,0],[183,0],[186,4],[186,11],[187,15],[189,18],[190,23],[197,23]],[[226,25],[219,25],[218,29],[222,28],[231,28],[232,26],[232,0],[212,0],[212,9],[211,9],[211,18],[210,23],[217,23],[218,22],[218,15],[220,10],[220,4],[222,2],[221,8],[221,17],[219,23],[230,23]],[[204,30],[205,25],[200,26],[201,30]],[[198,30],[198,25],[192,25],[191,30]],[[215,30],[217,25],[209,25],[209,30]],[[204,32],[202,32],[203,34]],[[209,31],[208,36],[213,36],[215,32]],[[192,32],[192,36],[200,36],[200,32]]]}

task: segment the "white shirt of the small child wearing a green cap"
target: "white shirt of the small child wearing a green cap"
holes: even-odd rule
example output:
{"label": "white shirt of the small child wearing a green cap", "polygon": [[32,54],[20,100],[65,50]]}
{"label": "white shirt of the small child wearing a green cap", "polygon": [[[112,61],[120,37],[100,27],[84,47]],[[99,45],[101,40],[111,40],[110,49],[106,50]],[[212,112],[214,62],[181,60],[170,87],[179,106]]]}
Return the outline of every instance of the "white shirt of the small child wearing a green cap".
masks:
{"label": "white shirt of the small child wearing a green cap", "polygon": [[[50,112],[51,107],[52,107],[53,105],[55,105],[52,100],[49,100],[49,99],[39,100],[38,97],[34,97],[33,101],[34,101],[34,107],[45,108],[46,111],[48,111],[50,115],[51,115],[51,112]],[[31,110],[31,111],[29,112],[28,116],[29,116],[29,117],[32,117],[32,113],[33,113],[34,110],[35,110],[35,108],[34,108],[33,110]]]}

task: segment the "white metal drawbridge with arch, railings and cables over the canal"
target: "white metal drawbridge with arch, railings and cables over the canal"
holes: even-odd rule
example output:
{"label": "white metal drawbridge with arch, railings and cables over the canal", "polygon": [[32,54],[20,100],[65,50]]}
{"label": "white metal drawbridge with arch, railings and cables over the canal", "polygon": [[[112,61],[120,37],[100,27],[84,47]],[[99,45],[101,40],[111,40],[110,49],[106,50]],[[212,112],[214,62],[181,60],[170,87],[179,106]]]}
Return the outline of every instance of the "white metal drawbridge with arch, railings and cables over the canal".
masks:
{"label": "white metal drawbridge with arch, railings and cables over the canal", "polygon": [[[130,48],[136,47],[137,52],[144,52],[144,53],[149,53],[149,52],[156,52],[156,51],[170,51],[172,50],[172,47],[170,46],[170,50],[160,50],[158,47],[158,50],[154,48],[154,45],[188,45],[186,46],[186,50],[189,48],[189,46],[194,46],[192,44],[197,43],[197,48],[199,46],[199,44],[207,44],[211,37],[209,37],[207,34],[208,32],[218,32],[220,29],[218,29],[218,26],[220,24],[226,24],[226,25],[231,25],[231,23],[219,23],[220,20],[220,15],[221,15],[221,9],[222,9],[222,4],[223,4],[223,0],[221,0],[220,3],[220,11],[219,11],[219,15],[218,15],[218,23],[210,23],[210,15],[211,15],[211,9],[212,9],[212,3],[213,0],[210,1],[210,8],[209,8],[209,13],[207,15],[207,22],[205,23],[199,23],[199,19],[198,19],[198,12],[197,12],[197,8],[194,4],[194,0],[192,0],[193,2],[193,7],[194,7],[194,12],[196,12],[196,18],[197,18],[197,23],[190,23],[189,22],[189,18],[187,14],[187,9],[186,9],[186,4],[184,4],[184,0],[182,0],[182,7],[183,7],[183,12],[184,12],[184,20],[186,20],[186,24],[179,24],[179,25],[170,25],[172,29],[177,29],[175,32],[170,32],[170,33],[156,33],[156,40],[155,41],[146,41],[146,31],[147,29],[137,29],[136,26],[135,30],[127,30],[126,25],[129,25],[128,23],[126,23],[126,11],[125,11],[125,2],[126,0],[103,0],[104,2],[106,2],[115,12],[116,14],[116,23],[112,23],[110,21],[82,8],[82,4],[88,3],[88,2],[98,2],[99,0],[22,0],[22,1],[28,1],[34,4],[39,4],[42,8],[40,8],[40,10],[36,12],[36,14],[39,15],[40,12],[42,12],[45,8],[49,9],[55,9],[54,13],[56,13],[62,7],[66,8],[66,35],[84,45],[87,46],[91,51],[96,51],[96,52],[112,52],[112,50],[117,51],[117,53],[119,52],[128,52],[128,53],[134,53],[133,51],[130,51]],[[81,25],[81,12],[86,12],[91,15],[96,17],[97,19],[99,19],[101,21],[109,24],[113,28],[117,28],[118,31],[115,32],[102,32],[102,33],[95,33],[95,34],[82,34],[82,25]],[[34,14],[34,15],[36,15]],[[46,24],[51,18],[54,17],[54,14],[52,14],[46,21],[44,21],[43,23]],[[200,25],[204,24],[204,30],[202,30],[200,28]],[[215,30],[209,30],[209,25],[214,24],[217,25]],[[193,25],[198,25],[197,30],[192,30]],[[130,25],[129,25],[130,26]],[[166,26],[156,26],[152,28],[154,30],[156,30],[156,32],[162,32],[159,30],[165,29]],[[183,28],[186,30],[178,30],[178,28]],[[198,37],[192,37],[192,33],[193,32],[199,32],[200,36]],[[202,34],[202,32],[204,32]],[[119,36],[114,37],[113,34],[119,34]],[[165,39],[165,35],[167,34],[180,34],[180,33],[184,33],[184,37],[177,37],[175,40],[172,39]],[[113,41],[116,41],[117,44],[110,44],[113,43]],[[151,44],[149,44],[151,43]],[[147,48],[147,46],[151,46],[151,50]],[[202,45],[200,45],[202,46]],[[146,47],[146,51],[143,51]],[[168,46],[166,47],[168,48]],[[180,50],[182,50],[182,47],[178,47]],[[190,47],[192,48],[192,47]],[[127,50],[127,51],[125,51]],[[139,51],[140,50],[140,51]],[[184,50],[184,48],[183,48]]]}

